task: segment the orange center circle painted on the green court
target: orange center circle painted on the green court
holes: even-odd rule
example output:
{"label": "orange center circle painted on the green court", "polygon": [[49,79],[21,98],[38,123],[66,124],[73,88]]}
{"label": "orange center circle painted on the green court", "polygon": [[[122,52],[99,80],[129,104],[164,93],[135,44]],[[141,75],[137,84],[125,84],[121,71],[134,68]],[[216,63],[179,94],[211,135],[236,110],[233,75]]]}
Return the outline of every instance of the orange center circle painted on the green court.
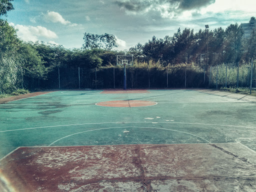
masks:
{"label": "orange center circle painted on the green court", "polygon": [[99,106],[112,106],[112,107],[137,107],[137,106],[151,106],[155,105],[157,102],[148,100],[110,100],[97,102],[96,105]]}

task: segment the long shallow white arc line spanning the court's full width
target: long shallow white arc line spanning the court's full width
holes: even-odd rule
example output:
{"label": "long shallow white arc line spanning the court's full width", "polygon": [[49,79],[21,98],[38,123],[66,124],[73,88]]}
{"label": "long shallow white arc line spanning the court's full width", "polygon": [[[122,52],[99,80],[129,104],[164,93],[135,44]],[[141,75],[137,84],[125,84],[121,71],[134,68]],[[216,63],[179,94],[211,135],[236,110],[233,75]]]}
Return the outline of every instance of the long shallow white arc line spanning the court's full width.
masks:
{"label": "long shallow white arc line spanning the court's full width", "polygon": [[[52,125],[52,126],[40,126],[32,128],[20,128],[11,130],[1,130],[0,132],[16,131],[16,130],[27,130],[27,129],[37,129],[37,128],[50,128],[50,127],[61,127],[61,126],[75,126],[75,125],[85,125],[85,124],[120,124],[120,123],[169,123],[169,124],[195,124],[195,125],[214,125],[214,126],[228,126],[228,127],[240,127],[240,128],[256,128],[250,126],[237,126],[237,125],[226,125],[226,124],[209,124],[209,123],[193,123],[193,122],[93,122],[93,123],[80,123],[80,124],[64,124],[64,125]],[[239,130],[239,129],[238,129]],[[243,131],[243,130],[240,130]],[[255,132],[246,130],[249,132]]]}

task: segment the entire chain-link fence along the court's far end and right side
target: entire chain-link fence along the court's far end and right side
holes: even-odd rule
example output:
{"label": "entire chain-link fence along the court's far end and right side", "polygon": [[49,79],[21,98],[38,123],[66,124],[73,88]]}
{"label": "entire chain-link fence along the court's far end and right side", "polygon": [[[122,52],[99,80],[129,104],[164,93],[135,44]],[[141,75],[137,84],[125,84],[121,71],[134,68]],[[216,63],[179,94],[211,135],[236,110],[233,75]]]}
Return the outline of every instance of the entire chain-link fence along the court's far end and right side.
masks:
{"label": "entire chain-link fence along the court's far end and right side", "polygon": [[[162,67],[126,68],[127,88],[220,88],[256,87],[255,63],[222,64],[210,67]],[[2,80],[3,68],[0,69]],[[46,79],[34,78],[26,70],[17,69],[14,83],[16,88],[72,89],[72,88],[123,88],[123,67],[106,68],[61,68],[55,67]],[[5,77],[6,78],[6,77]],[[11,78],[8,76],[8,78]],[[7,80],[5,80],[7,82]],[[3,83],[2,83],[3,84]],[[3,89],[3,86],[1,87]]]}

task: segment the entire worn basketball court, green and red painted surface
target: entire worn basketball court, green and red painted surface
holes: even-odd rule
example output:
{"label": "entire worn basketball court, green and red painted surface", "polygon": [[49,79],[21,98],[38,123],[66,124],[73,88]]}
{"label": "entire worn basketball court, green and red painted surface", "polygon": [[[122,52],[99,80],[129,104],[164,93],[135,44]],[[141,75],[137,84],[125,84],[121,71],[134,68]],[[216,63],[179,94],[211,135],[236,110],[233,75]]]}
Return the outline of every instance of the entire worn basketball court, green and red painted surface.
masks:
{"label": "entire worn basketball court, green and red painted surface", "polygon": [[0,100],[0,191],[255,191],[256,98],[58,90]]}

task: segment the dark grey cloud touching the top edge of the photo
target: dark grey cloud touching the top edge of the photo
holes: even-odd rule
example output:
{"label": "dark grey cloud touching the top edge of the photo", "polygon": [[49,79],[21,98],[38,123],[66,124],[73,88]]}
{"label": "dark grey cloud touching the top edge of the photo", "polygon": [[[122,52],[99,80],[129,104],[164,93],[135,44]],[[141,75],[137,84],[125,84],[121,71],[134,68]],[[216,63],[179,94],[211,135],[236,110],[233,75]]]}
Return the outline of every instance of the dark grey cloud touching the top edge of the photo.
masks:
{"label": "dark grey cloud touching the top edge of the photo", "polygon": [[215,0],[114,0],[126,13],[144,14],[158,12],[162,17],[177,17],[188,10],[198,10],[213,4]]}

